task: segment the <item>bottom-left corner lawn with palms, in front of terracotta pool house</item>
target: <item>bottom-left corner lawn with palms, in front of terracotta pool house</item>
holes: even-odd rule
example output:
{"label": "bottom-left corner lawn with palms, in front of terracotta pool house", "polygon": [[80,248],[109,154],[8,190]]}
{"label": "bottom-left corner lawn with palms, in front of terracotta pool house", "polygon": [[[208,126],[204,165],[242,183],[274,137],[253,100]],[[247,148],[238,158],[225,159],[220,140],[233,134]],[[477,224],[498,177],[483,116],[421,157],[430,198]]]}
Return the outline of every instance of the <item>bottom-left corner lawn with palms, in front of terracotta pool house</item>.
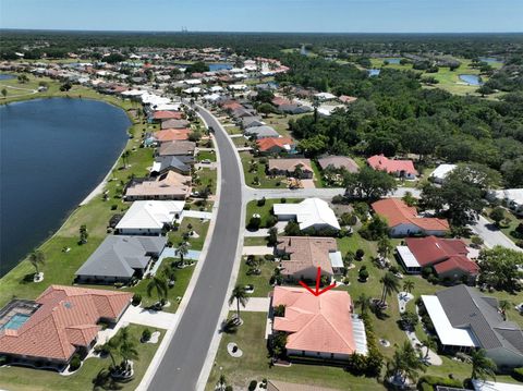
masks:
{"label": "bottom-left corner lawn with palms, in front of terracotta pool house", "polygon": [[[161,331],[160,340],[157,344],[141,343],[139,338],[143,326],[130,325],[131,337],[136,341],[139,358],[134,362],[134,379],[126,383],[121,383],[122,390],[135,390],[139,384],[147,367],[158,349],[163,331]],[[149,328],[150,331],[157,331]],[[117,355],[117,361],[121,358]],[[96,375],[104,368],[108,368],[111,359],[107,358],[88,358],[83,366],[71,376],[61,376],[58,372],[49,370],[38,370],[23,367],[0,367],[0,388],[12,391],[78,391],[92,389],[92,381]]]}

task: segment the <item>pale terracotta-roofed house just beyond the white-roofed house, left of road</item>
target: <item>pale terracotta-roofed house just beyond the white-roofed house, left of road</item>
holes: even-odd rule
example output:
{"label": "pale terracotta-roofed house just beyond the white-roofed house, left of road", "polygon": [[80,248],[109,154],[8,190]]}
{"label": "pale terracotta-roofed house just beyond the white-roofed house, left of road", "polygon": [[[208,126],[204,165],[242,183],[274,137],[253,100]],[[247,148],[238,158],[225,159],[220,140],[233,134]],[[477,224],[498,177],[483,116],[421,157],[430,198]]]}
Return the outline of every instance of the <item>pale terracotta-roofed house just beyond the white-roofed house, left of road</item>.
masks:
{"label": "pale terracotta-roofed house just beyond the white-roofed house, left of road", "polygon": [[133,179],[125,188],[125,200],[178,199],[191,195],[191,176],[168,171],[156,179]]}

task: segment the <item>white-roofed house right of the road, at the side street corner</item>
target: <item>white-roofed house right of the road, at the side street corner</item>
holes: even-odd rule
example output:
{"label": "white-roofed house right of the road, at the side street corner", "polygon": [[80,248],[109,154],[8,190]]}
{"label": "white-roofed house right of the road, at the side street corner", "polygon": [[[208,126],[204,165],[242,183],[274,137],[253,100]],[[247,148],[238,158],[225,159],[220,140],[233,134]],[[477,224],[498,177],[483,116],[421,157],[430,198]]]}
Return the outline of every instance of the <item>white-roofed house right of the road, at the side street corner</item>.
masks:
{"label": "white-roofed house right of the road, at the side street corner", "polygon": [[319,198],[307,198],[300,204],[275,204],[272,210],[278,220],[295,220],[301,230],[309,228],[340,230],[335,211],[329,204]]}

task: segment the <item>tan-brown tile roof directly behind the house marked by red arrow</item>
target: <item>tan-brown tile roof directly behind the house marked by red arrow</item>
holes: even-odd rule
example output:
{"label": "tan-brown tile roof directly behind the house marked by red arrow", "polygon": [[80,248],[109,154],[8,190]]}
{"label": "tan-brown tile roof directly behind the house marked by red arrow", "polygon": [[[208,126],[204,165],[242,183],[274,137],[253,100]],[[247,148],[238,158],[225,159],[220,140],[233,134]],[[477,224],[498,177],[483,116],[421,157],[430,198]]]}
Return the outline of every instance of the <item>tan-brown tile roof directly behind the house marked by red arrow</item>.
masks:
{"label": "tan-brown tile roof directly behind the house marked by red arrow", "polygon": [[337,252],[338,245],[332,237],[281,236],[277,248],[290,255],[290,260],[281,261],[284,274],[300,276],[303,270],[318,267],[325,273],[333,273],[329,254]]}

